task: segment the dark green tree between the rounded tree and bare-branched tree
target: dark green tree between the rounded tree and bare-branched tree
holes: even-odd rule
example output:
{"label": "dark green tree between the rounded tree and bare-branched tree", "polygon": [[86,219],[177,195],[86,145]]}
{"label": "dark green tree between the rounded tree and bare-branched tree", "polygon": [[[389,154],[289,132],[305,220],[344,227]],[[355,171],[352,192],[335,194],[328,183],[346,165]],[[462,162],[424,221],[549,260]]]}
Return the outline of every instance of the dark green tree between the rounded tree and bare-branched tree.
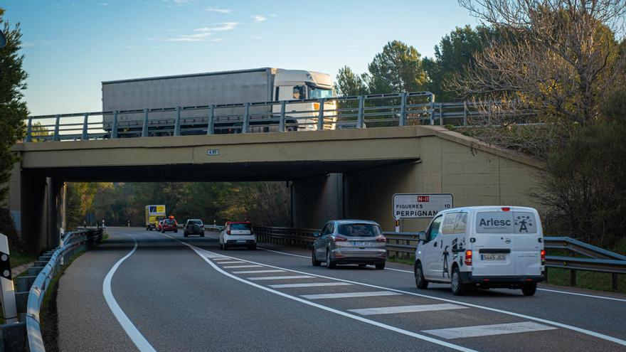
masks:
{"label": "dark green tree between the rounded tree and bare-branched tree", "polygon": [[428,90],[437,100],[450,102],[463,96],[450,89],[448,82],[476,65],[475,56],[497,41],[497,32],[487,26],[457,27],[435,46],[435,58],[424,58],[423,67],[428,75]]}

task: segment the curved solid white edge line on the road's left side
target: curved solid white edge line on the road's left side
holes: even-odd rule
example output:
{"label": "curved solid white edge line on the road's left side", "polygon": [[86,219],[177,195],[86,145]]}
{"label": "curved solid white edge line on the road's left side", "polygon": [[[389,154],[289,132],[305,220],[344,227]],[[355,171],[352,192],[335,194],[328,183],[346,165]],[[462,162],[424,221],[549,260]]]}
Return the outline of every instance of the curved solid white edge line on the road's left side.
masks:
{"label": "curved solid white edge line on the road's left side", "polygon": [[[124,235],[127,235],[127,234],[124,234]],[[117,304],[117,301],[115,301],[115,297],[113,297],[113,292],[111,290],[111,279],[113,278],[113,274],[115,274],[115,271],[117,270],[117,268],[120,267],[120,264],[122,264],[124,260],[130,257],[137,250],[137,240],[132,235],[127,235],[127,236],[129,238],[132,238],[132,240],[134,241],[134,247],[127,255],[122,257],[122,259],[118,260],[115,263],[115,265],[113,265],[111,270],[109,270],[109,272],[107,273],[107,276],[105,277],[105,281],[102,282],[102,294],[104,294],[105,301],[109,305],[109,309],[111,309],[111,312],[115,316],[115,319],[117,319],[117,321],[122,326],[122,329],[124,329],[128,337],[132,340],[132,342],[134,343],[134,346],[137,346],[137,348],[139,348],[139,351],[142,351],[142,352],[152,352],[152,351],[156,352],[154,347],[150,345],[148,340],[146,340],[146,338],[142,335],[142,333],[140,333],[139,330],[137,330],[137,327],[135,327],[134,324],[132,324],[132,321],[130,321],[130,319],[128,319],[128,316],[124,313],[124,311],[122,311],[122,308],[120,308],[120,305]]]}

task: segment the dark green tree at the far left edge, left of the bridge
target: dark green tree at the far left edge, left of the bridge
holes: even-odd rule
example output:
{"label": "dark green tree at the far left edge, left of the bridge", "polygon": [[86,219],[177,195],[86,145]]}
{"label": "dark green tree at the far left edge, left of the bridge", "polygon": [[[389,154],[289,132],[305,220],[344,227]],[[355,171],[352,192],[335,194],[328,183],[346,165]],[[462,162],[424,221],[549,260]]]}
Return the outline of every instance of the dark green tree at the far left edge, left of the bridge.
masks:
{"label": "dark green tree at the far left edge, left of the bridge", "polygon": [[19,160],[11,147],[24,135],[24,119],[28,108],[22,91],[26,89],[28,75],[22,68],[21,31],[17,24],[4,21],[4,9],[0,9],[0,26],[6,36],[6,46],[0,48],[0,204],[9,193],[9,178],[14,164]]}

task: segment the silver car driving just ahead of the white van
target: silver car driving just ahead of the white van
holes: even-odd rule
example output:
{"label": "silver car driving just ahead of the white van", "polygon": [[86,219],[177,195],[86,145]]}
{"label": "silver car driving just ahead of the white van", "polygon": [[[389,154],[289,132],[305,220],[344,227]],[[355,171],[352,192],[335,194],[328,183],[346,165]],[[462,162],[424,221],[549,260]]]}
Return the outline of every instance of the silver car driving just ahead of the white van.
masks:
{"label": "silver car driving just ahead of the white van", "polygon": [[329,269],[338,264],[376,265],[385,268],[387,239],[381,226],[368,220],[331,220],[321,232],[315,232],[312,262],[326,262]]}

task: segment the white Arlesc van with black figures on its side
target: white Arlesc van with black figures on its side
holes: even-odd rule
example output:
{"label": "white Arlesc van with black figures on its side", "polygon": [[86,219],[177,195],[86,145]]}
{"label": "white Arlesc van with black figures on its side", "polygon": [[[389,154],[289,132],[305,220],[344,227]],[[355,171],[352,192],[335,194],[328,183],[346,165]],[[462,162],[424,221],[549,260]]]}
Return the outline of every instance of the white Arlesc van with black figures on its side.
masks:
{"label": "white Arlesc van with black figures on its side", "polygon": [[545,270],[543,230],[534,208],[473,206],[437,213],[420,232],[415,250],[415,284],[452,285],[461,295],[469,287],[521,289],[532,296]]}

